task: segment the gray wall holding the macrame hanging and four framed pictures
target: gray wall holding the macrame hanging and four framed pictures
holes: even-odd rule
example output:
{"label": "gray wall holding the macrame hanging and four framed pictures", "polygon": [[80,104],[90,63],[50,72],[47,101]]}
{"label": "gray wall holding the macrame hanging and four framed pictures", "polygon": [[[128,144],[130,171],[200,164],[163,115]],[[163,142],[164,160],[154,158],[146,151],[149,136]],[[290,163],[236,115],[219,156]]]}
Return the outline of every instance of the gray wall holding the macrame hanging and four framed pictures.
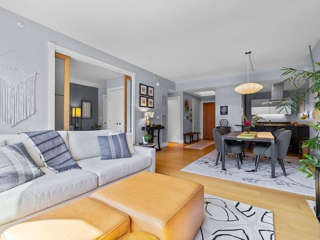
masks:
{"label": "gray wall holding the macrame hanging and four framed pictures", "polygon": [[[18,27],[17,22],[23,22],[24,27]],[[154,86],[154,89],[157,91],[155,91],[154,108],[152,108],[152,110],[157,115],[167,114],[167,107],[161,105],[161,94],[167,95],[168,88],[175,90],[175,84],[172,81],[1,7],[0,32],[0,55],[14,49],[24,61],[37,72],[35,77],[35,113],[13,127],[9,127],[3,122],[0,122],[1,133],[17,133],[48,128],[48,41],[128,71],[135,72],[135,88],[139,89],[138,86],[140,82]],[[3,60],[0,64],[10,65],[10,62]],[[160,83],[161,91],[158,91],[158,88],[156,88],[156,82]],[[159,92],[161,92],[161,94]],[[143,125],[141,121],[141,111],[146,110],[146,108],[142,109],[139,107],[138,100],[138,91],[136,91],[135,102],[133,103],[135,106],[135,139],[141,139],[143,135],[143,131],[140,130]]]}

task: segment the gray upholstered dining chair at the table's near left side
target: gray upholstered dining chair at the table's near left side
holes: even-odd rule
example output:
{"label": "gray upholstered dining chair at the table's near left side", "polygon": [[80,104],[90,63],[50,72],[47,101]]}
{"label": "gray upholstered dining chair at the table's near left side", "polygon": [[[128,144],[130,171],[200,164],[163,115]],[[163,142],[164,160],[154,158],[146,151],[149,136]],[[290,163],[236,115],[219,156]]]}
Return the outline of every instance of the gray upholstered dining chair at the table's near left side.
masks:
{"label": "gray upholstered dining chair at the table's near left side", "polygon": [[[217,151],[216,161],[215,161],[215,165],[217,165],[219,156],[222,152],[222,135],[225,134],[225,132],[222,129],[212,128],[212,133],[214,137],[215,149]],[[242,153],[241,153],[242,151],[243,151],[242,146],[227,144],[226,142],[224,142],[224,152],[235,154],[235,159],[236,159],[236,164],[238,166],[238,169],[240,169],[239,158],[242,162]]]}

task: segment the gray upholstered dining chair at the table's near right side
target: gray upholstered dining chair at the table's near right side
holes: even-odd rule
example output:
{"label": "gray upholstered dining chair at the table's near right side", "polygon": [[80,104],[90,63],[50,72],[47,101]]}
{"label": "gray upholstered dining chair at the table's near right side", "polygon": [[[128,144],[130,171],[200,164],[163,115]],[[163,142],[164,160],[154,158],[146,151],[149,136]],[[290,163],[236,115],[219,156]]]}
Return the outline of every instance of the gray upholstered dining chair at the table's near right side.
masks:
{"label": "gray upholstered dining chair at the table's near right side", "polygon": [[[281,130],[276,136],[274,136],[274,158],[277,158],[281,165],[283,175],[286,176],[283,158],[285,158],[289,142],[291,138],[291,130]],[[253,147],[253,154],[255,157],[255,169],[257,170],[259,164],[259,157],[266,156],[271,157],[271,146],[255,146]]]}

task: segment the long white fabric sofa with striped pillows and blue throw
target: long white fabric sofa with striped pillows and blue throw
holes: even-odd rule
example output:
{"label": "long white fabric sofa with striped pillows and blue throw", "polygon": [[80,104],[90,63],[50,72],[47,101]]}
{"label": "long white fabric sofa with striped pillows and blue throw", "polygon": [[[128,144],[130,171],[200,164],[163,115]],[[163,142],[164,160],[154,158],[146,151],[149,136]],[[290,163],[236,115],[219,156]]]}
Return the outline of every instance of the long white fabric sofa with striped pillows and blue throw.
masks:
{"label": "long white fabric sofa with striped pillows and blue throw", "polygon": [[101,160],[97,136],[119,129],[58,131],[69,152],[82,169],[55,173],[44,166],[38,151],[24,134],[0,134],[6,145],[22,142],[40,169],[33,180],[0,192],[0,232],[43,211],[88,196],[108,184],[140,171],[155,171],[155,149],[135,146],[131,157]]}

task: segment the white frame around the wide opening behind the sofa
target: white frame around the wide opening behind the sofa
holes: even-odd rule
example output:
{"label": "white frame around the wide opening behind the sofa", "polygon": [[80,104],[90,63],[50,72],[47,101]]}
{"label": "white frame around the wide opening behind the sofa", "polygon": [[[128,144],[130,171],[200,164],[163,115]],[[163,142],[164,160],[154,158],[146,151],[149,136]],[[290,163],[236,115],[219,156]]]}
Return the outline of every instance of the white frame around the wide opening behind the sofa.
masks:
{"label": "white frame around the wide opening behind the sofa", "polygon": [[70,50],[54,42],[48,41],[48,129],[54,129],[54,81],[55,81],[55,52],[70,56],[76,60],[99,66],[104,69],[112,70],[123,75],[131,77],[131,126],[132,126],[132,139],[135,135],[135,72],[111,65],[104,61],[97,60],[93,57],[84,55],[82,53]]}

